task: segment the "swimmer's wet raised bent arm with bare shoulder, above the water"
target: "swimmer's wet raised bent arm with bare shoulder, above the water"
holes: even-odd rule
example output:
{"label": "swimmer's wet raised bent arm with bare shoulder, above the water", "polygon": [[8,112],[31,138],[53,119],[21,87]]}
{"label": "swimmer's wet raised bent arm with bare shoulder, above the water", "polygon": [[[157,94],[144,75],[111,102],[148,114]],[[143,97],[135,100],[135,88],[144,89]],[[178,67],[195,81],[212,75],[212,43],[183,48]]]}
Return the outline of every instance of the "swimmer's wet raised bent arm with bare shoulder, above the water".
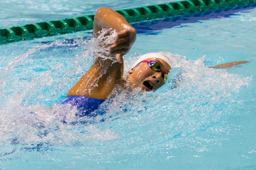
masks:
{"label": "swimmer's wet raised bent arm with bare shoulder, above the water", "polygon": [[118,32],[116,39],[108,48],[107,57],[116,57],[117,61],[97,57],[90,69],[68,91],[67,96],[87,96],[94,99],[106,99],[122,78],[122,56],[131,49],[136,40],[136,30],[122,15],[110,8],[99,8],[94,17],[93,37],[99,36],[103,28]]}

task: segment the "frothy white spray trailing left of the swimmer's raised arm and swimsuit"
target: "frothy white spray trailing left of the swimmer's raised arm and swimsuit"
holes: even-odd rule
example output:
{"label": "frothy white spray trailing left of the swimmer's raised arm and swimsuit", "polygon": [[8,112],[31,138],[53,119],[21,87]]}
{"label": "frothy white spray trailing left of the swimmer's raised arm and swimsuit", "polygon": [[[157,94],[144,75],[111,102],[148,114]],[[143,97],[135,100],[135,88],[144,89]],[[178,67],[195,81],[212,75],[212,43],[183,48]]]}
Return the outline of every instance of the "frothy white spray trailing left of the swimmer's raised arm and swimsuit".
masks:
{"label": "frothy white spray trailing left of the swimmer's raised arm and swimsuit", "polygon": [[[90,67],[92,53],[102,55],[103,48],[88,49],[98,47],[102,38],[111,41],[111,36],[103,34],[88,42],[79,39],[36,45],[1,68],[0,145],[75,145],[90,139],[118,137],[111,130],[90,125],[91,118],[80,120],[75,116],[78,111],[74,107],[48,109],[60,102],[70,86]],[[115,35],[112,41],[113,37]],[[69,51],[73,53],[72,57],[63,57]],[[64,119],[68,125],[63,123]],[[81,121],[88,123],[86,126],[73,125]]]}

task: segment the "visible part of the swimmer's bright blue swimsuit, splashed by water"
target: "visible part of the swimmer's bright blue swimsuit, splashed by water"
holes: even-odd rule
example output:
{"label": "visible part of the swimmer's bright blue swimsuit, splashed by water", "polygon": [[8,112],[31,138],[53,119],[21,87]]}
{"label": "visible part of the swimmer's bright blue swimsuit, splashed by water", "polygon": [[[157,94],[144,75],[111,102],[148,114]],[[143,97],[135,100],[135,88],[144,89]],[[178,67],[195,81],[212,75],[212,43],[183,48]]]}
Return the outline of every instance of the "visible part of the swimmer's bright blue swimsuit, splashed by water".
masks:
{"label": "visible part of the swimmer's bright blue swimsuit, splashed by water", "polygon": [[102,99],[93,99],[84,96],[68,96],[66,97],[66,99],[62,100],[60,104],[70,104],[76,106],[78,111],[80,112],[77,116],[82,117],[98,109],[99,105],[102,104],[104,101],[105,100]]}

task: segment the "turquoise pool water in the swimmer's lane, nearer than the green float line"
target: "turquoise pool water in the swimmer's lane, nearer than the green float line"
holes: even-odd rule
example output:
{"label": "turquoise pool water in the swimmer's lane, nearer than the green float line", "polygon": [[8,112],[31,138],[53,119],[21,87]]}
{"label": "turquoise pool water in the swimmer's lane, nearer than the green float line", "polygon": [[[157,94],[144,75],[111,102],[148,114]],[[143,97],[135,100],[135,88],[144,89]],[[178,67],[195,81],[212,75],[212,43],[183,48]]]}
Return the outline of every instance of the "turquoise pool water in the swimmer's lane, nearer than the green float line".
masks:
{"label": "turquoise pool water in the swimmer's lane, nearer than the green float line", "polygon": [[[200,16],[134,24],[125,72],[162,51],[169,82],[124,91],[94,117],[48,110],[90,67],[91,31],[1,45],[0,169],[256,169],[256,10]],[[207,68],[235,60],[250,63]]]}

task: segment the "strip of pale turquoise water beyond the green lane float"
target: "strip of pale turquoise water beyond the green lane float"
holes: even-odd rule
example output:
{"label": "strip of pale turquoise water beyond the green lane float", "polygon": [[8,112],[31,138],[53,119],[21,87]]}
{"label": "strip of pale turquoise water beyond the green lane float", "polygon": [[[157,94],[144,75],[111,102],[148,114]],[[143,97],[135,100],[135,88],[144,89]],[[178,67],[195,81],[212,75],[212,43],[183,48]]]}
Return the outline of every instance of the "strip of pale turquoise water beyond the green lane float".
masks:
{"label": "strip of pale turquoise water beyond the green lane float", "polygon": [[1,0],[0,28],[95,14],[100,7],[119,10],[171,1],[175,0]]}

